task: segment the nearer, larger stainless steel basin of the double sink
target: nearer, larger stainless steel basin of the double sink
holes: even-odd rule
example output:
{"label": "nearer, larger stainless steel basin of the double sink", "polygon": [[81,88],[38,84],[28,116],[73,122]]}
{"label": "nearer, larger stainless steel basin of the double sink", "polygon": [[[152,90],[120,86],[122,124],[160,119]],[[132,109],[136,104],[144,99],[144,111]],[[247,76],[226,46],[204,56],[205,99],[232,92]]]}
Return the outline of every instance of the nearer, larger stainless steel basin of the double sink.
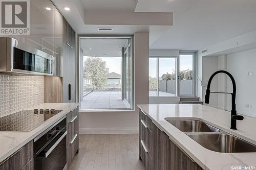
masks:
{"label": "nearer, larger stainless steel basin of the double sink", "polygon": [[222,153],[256,152],[256,145],[230,134],[187,134],[202,147]]}

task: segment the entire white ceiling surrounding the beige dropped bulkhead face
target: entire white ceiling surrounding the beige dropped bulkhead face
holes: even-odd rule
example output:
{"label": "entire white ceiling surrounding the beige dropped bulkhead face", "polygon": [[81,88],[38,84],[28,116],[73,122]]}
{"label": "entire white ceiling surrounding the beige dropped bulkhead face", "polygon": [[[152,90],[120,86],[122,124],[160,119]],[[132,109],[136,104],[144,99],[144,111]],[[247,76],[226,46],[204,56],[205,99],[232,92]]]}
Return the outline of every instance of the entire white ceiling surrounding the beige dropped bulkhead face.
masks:
{"label": "entire white ceiling surrounding the beige dropped bulkhead face", "polygon": [[[200,50],[205,46],[256,30],[255,0],[138,0],[136,8],[136,0],[53,1],[78,34],[120,35],[149,31],[151,49]],[[64,6],[70,6],[71,11],[63,11]],[[81,9],[174,12],[174,25],[172,27],[84,25]],[[113,27],[114,30],[98,32],[97,27]]]}

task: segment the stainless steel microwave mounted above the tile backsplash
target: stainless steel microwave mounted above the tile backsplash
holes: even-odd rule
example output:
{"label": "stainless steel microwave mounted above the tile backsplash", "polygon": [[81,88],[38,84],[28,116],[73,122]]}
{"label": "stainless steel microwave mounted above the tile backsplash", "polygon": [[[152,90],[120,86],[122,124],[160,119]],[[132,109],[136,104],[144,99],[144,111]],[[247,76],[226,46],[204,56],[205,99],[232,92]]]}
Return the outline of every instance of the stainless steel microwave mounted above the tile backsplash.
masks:
{"label": "stainless steel microwave mounted above the tile backsplash", "polygon": [[53,59],[14,38],[0,38],[0,72],[52,76]]}

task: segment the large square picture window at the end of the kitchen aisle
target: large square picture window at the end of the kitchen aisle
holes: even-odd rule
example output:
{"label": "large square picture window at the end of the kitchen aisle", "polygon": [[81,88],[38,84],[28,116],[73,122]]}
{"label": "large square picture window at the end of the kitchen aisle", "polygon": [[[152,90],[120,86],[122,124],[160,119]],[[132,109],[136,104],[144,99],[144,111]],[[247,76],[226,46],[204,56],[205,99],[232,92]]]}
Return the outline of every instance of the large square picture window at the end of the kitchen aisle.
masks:
{"label": "large square picture window at the end of the kitchen aisle", "polygon": [[133,109],[132,37],[79,37],[80,109]]}

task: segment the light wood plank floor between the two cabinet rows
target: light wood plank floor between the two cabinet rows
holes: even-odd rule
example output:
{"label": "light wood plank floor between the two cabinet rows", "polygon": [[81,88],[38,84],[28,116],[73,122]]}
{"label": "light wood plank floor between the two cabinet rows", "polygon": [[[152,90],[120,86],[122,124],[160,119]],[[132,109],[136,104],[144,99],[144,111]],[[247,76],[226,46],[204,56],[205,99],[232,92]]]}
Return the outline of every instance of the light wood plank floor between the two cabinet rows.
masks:
{"label": "light wood plank floor between the two cabinet rows", "polygon": [[139,134],[79,135],[79,153],[69,170],[144,170]]}

